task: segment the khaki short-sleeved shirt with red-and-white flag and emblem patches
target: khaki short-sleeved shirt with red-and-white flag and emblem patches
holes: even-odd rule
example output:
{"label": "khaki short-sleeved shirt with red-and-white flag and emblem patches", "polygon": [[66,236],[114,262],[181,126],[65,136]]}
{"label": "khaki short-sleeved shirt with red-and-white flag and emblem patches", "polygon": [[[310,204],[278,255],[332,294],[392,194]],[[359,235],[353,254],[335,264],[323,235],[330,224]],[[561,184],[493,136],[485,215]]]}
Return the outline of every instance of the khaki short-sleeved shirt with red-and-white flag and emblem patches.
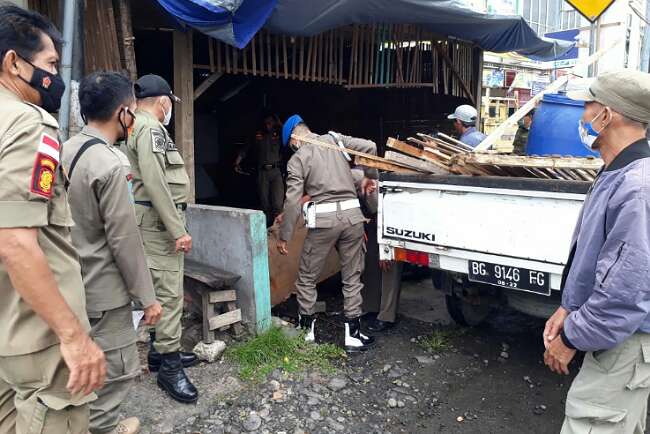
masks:
{"label": "khaki short-sleeved shirt with red-and-white flag and emblem patches", "polygon": [[[89,330],[57,130],[49,113],[0,86],[0,227],[38,229],[38,243],[59,291]],[[29,354],[58,343],[22,300],[2,263],[0,300],[0,356]]]}

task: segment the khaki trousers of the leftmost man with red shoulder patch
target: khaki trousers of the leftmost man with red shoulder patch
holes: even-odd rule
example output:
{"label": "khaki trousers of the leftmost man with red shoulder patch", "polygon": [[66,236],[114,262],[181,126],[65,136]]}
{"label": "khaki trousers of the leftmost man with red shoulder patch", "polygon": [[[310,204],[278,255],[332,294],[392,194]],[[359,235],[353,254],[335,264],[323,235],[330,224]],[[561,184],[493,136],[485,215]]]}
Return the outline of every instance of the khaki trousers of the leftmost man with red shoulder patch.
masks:
{"label": "khaki trousers of the leftmost man with red shoulder patch", "polygon": [[87,434],[95,394],[71,396],[69,374],[59,345],[0,357],[0,433]]}

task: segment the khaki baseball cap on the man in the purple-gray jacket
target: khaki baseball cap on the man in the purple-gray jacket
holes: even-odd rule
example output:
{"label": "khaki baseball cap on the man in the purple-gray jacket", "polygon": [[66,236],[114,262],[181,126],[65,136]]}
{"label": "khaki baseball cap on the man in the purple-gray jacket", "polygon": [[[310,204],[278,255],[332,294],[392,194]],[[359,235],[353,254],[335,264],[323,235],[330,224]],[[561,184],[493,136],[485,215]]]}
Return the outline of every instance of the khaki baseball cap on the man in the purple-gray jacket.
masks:
{"label": "khaki baseball cap on the man in the purple-gray jacket", "polygon": [[598,102],[632,120],[650,122],[650,74],[633,69],[605,72],[589,87],[567,92],[567,97]]}

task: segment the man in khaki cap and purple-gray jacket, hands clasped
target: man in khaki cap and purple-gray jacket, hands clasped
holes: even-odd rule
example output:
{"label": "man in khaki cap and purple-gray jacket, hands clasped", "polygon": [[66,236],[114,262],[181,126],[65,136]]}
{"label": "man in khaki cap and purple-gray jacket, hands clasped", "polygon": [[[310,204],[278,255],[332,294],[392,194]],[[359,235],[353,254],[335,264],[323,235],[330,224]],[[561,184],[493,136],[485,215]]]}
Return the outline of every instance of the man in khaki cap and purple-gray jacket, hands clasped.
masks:
{"label": "man in khaki cap and purple-gray jacket, hands clasped", "polygon": [[563,278],[562,306],[544,330],[544,361],[568,374],[587,352],[566,400],[562,433],[645,431],[650,394],[650,75],[600,75],[580,133],[605,167],[584,203]]}

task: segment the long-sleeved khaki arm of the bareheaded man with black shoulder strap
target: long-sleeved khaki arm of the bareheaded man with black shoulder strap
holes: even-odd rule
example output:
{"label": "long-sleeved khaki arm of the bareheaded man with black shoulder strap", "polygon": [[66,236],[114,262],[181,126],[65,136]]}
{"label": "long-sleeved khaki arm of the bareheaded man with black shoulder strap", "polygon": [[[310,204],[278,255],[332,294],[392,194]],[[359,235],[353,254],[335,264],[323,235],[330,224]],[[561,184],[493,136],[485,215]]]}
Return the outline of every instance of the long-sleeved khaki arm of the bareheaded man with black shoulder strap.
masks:
{"label": "long-sleeved khaki arm of the bareheaded man with black shoulder strap", "polygon": [[99,198],[108,247],[131,298],[143,307],[149,307],[156,302],[156,294],[122,167],[112,168],[94,185],[94,189],[95,197]]}

